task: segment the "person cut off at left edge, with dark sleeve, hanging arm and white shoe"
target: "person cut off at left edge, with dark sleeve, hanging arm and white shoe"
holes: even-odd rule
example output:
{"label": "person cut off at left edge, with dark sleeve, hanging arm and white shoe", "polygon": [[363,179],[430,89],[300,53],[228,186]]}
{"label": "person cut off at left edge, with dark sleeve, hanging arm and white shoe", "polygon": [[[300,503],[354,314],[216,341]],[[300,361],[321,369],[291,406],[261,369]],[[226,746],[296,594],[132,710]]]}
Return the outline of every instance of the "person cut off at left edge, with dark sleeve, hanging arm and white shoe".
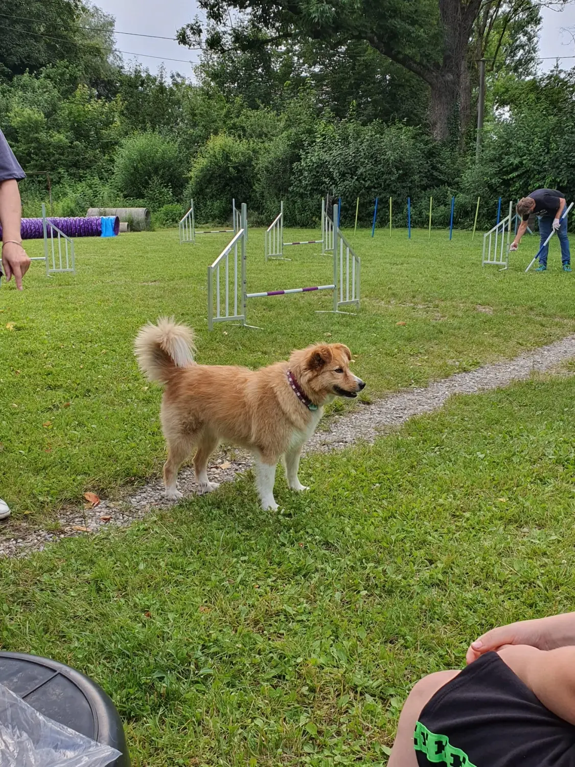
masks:
{"label": "person cut off at left edge, with dark sleeve, hanging arm and white shoe", "polygon": [[[30,258],[22,247],[20,236],[21,202],[18,179],[25,179],[12,150],[0,130],[0,224],[2,224],[2,268],[8,282],[14,277],[18,290],[28,272]],[[2,278],[0,268],[0,278]],[[0,519],[10,515],[8,504],[0,498]]]}

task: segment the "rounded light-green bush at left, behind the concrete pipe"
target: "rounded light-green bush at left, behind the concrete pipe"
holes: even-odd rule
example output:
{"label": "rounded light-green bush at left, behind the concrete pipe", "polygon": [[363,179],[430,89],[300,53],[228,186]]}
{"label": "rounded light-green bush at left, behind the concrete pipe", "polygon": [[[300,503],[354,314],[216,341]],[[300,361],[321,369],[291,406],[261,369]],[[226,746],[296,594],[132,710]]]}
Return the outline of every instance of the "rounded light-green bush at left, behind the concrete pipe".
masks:
{"label": "rounded light-green bush at left, behind the concrete pipe", "polygon": [[[162,205],[178,198],[186,183],[178,146],[159,133],[135,133],[116,153],[113,183],[126,198],[144,198],[163,189]],[[169,199],[166,199],[169,196]]]}

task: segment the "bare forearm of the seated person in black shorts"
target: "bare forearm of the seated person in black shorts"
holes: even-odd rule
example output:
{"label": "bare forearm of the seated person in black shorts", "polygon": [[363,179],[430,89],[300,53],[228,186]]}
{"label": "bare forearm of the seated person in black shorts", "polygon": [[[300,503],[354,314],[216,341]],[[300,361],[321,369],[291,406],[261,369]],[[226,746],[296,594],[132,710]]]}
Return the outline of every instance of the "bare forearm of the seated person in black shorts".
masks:
{"label": "bare forearm of the seated person in black shorts", "polygon": [[483,653],[499,650],[507,644],[528,644],[539,650],[575,646],[575,613],[536,618],[534,621],[517,621],[491,629],[471,642],[467,662],[472,663]]}

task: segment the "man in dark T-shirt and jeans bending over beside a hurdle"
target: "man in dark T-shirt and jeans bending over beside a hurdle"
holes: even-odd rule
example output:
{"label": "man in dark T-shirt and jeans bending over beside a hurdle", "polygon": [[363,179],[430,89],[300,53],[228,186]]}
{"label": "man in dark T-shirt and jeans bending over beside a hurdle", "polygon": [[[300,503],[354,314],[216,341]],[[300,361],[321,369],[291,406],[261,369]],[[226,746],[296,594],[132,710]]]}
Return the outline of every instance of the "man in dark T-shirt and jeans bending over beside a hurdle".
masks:
{"label": "man in dark T-shirt and jeans bending over beside a hurdle", "polygon": [[557,189],[535,189],[527,197],[523,197],[517,202],[517,214],[521,216],[521,224],[517,229],[515,239],[509,246],[510,250],[517,250],[521,237],[527,231],[527,222],[531,213],[535,213],[539,220],[539,231],[541,235],[542,248],[539,254],[539,266],[536,272],[547,271],[547,254],[549,245],[543,247],[543,244],[553,229],[557,232],[557,237],[561,244],[561,264],[563,272],[571,271],[571,253],[569,250],[569,237],[567,236],[567,216],[561,220],[561,215],[565,209],[565,196],[563,192]]}

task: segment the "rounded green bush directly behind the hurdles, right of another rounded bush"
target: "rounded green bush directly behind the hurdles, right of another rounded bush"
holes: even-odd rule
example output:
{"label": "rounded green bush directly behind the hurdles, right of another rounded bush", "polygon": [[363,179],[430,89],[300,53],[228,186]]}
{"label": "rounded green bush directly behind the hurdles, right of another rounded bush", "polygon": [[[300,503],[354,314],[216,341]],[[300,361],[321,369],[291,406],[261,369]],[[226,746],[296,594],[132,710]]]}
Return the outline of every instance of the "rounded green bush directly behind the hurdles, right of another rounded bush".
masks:
{"label": "rounded green bush directly behind the hurdles, right of another rounded bush", "polygon": [[228,221],[232,199],[251,202],[254,185],[254,143],[225,133],[212,136],[195,158],[187,191],[194,200],[195,219]]}

